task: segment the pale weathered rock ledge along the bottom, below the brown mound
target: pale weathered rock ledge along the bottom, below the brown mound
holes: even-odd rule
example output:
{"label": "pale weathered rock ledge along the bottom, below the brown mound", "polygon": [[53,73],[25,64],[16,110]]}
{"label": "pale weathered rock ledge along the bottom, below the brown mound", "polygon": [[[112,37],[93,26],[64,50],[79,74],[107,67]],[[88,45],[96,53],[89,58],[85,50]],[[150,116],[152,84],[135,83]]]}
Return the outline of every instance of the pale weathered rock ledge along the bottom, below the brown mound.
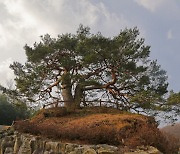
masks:
{"label": "pale weathered rock ledge along the bottom, below the brown mound", "polygon": [[[4,133],[5,134],[5,133]],[[11,133],[0,139],[0,154],[118,154],[111,145],[78,145],[50,141],[39,136]],[[152,146],[140,146],[125,154],[161,154]]]}

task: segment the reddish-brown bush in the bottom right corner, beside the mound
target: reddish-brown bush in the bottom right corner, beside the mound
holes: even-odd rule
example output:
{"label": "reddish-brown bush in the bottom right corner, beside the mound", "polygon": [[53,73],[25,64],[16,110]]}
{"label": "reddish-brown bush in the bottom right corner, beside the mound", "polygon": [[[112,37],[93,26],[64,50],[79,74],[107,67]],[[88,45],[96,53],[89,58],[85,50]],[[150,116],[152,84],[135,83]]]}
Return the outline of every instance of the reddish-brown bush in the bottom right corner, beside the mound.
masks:
{"label": "reddish-brown bush in the bottom right corner, beside the mound", "polygon": [[140,145],[156,147],[164,154],[176,154],[179,150],[179,141],[172,135],[160,132],[156,127],[143,126],[132,137],[128,138],[126,145],[132,148]]}

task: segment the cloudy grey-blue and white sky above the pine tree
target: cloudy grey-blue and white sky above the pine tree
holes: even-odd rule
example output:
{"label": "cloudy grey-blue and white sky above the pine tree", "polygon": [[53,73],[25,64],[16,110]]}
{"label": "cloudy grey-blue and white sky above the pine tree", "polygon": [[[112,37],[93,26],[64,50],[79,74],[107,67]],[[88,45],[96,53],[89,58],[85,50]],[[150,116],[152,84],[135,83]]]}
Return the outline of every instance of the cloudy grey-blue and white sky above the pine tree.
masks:
{"label": "cloudy grey-blue and white sky above the pine tree", "polygon": [[0,84],[13,79],[13,61],[26,61],[25,44],[46,33],[75,33],[80,23],[105,36],[137,26],[151,59],[167,71],[169,89],[180,90],[178,0],[0,0]]}

